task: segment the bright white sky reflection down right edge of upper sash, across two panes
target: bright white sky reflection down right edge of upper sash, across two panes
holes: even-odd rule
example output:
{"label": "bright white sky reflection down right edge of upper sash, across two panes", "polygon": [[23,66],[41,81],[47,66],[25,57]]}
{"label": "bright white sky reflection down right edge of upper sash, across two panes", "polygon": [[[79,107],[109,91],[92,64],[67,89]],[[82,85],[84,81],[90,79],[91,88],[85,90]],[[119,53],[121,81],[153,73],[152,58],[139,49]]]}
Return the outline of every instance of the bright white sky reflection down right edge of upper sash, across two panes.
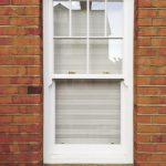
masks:
{"label": "bright white sky reflection down right edge of upper sash, across two panes", "polygon": [[[108,37],[123,38],[123,0],[107,0],[106,17],[111,33]],[[114,63],[120,63],[123,59],[123,39],[108,40],[108,59]]]}

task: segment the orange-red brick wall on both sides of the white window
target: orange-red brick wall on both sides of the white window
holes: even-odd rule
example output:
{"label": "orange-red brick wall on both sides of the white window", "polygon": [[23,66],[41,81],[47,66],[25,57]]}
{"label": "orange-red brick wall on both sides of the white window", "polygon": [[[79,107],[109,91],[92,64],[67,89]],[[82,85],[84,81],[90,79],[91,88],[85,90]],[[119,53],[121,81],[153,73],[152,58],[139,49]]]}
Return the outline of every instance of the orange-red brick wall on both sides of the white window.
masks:
{"label": "orange-red brick wall on both sides of the white window", "polygon": [[[135,0],[135,166],[166,165],[166,0]],[[42,165],[41,0],[0,0],[0,165]]]}

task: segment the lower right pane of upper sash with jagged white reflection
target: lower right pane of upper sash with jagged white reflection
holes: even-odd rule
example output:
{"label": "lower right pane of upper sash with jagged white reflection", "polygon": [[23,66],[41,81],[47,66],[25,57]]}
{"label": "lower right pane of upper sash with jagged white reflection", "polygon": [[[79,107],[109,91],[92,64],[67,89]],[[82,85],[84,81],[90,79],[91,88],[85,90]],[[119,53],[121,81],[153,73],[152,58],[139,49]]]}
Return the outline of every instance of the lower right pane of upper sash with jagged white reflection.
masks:
{"label": "lower right pane of upper sash with jagged white reflection", "polygon": [[122,48],[122,40],[91,39],[90,73],[121,74],[123,55]]}

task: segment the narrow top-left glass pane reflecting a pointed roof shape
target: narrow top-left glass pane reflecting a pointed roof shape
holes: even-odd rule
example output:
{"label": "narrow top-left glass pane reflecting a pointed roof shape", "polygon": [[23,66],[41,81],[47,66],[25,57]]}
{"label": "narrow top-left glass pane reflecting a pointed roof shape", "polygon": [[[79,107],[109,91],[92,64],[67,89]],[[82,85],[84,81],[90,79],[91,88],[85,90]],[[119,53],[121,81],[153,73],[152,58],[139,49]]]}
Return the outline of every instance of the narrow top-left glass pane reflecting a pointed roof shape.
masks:
{"label": "narrow top-left glass pane reflecting a pointed roof shape", "polygon": [[69,35],[69,0],[54,0],[53,1],[53,17],[54,17],[54,35]]}

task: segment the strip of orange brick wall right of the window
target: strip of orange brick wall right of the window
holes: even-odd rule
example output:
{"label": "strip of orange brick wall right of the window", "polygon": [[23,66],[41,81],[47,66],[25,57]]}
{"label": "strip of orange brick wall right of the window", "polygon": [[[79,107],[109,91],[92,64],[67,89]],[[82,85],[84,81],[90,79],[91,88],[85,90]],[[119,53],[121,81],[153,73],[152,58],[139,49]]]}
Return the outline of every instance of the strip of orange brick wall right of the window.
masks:
{"label": "strip of orange brick wall right of the window", "polygon": [[166,166],[166,0],[136,4],[135,165]]}

